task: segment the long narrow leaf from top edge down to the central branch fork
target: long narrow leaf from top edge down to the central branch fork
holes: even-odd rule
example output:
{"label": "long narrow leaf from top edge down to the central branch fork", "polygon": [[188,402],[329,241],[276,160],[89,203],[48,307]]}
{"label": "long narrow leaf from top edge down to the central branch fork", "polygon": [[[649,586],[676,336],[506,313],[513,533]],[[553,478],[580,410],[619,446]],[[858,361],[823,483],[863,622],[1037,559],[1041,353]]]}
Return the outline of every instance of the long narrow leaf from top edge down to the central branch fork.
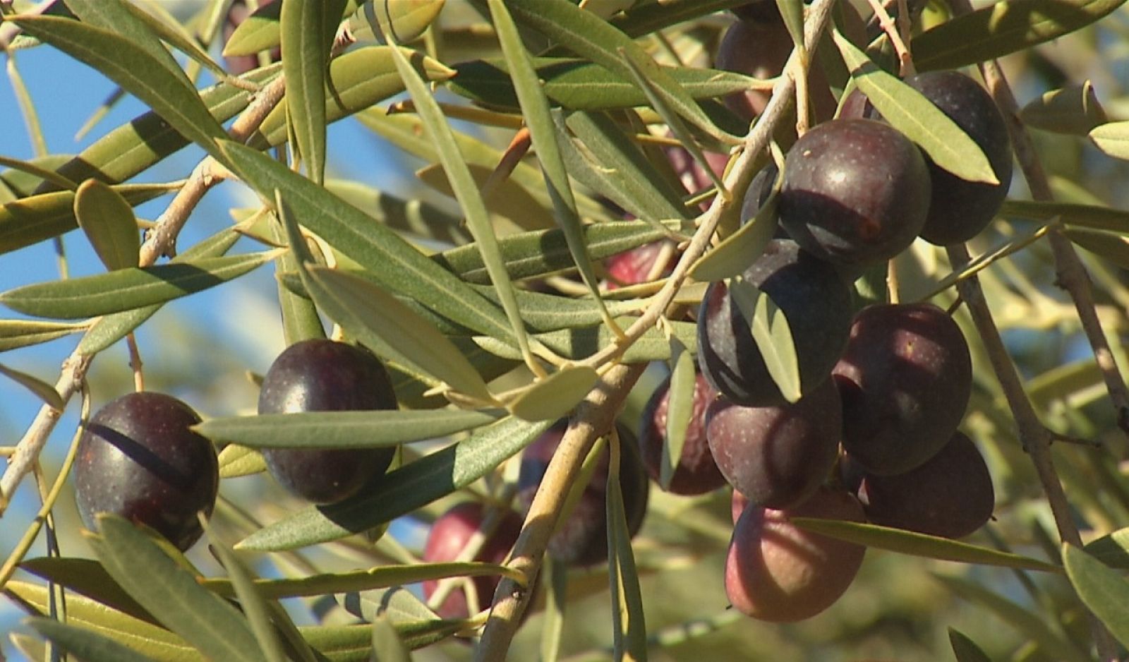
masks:
{"label": "long narrow leaf from top edge down to the central branch fork", "polygon": [[564,160],[557,145],[557,128],[549,113],[549,99],[545,98],[541,81],[533,69],[533,62],[522,44],[517,26],[514,25],[506,6],[500,0],[490,0],[490,14],[493,17],[495,29],[498,31],[502,54],[506,56],[514,77],[514,87],[522,104],[522,114],[525,117],[525,125],[530,129],[533,148],[537,153],[537,162],[545,176],[549,197],[553,201],[557,224],[564,233],[569,252],[572,253],[572,260],[576,262],[585,285],[588,286],[588,291],[592,293],[593,299],[599,306],[603,317],[610,321],[611,317],[599,296],[599,282],[592,269],[592,259],[588,256],[588,249],[584,243],[580,216],[577,211],[576,199],[572,197],[572,186],[569,183]]}

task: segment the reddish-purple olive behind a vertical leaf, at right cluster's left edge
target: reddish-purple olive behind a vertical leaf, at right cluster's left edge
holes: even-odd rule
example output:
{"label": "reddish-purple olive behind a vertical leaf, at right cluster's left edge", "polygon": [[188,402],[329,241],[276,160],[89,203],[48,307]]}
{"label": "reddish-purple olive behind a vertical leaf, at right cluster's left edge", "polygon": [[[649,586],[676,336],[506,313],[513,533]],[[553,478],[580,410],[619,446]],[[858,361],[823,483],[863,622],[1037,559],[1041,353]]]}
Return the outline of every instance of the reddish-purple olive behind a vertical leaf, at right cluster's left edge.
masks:
{"label": "reddish-purple olive behind a vertical leaf, at right cluster's left edge", "polygon": [[[667,491],[695,495],[714,491],[725,485],[709,444],[706,442],[706,408],[717,398],[717,391],[700,373],[694,376],[694,402],[686,426],[682,454],[674,465]],[[647,474],[659,485],[663,467],[663,444],[666,441],[666,421],[671,404],[671,378],[667,377],[651,394],[644,408],[639,433],[639,455]]]}

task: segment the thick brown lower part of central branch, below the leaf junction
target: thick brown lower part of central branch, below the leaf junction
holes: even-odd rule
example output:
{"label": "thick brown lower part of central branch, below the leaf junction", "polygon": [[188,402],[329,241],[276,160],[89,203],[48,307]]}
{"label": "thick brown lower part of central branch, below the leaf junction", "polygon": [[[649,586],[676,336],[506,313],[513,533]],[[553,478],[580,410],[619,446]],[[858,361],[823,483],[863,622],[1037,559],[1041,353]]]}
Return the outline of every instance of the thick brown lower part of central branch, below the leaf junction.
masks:
{"label": "thick brown lower part of central branch, below the leaf junction", "polygon": [[501,662],[522,619],[522,612],[533,593],[532,583],[541,569],[541,559],[557,525],[557,516],[569,493],[569,486],[580,471],[584,459],[601,434],[611,428],[615,413],[646,365],[616,365],[609,369],[596,387],[576,408],[557,452],[530,504],[522,533],[514,545],[509,567],[519,570],[530,586],[522,587],[511,578],[502,578],[495,592],[493,609],[482,631],[482,642],[474,652],[475,662]]}

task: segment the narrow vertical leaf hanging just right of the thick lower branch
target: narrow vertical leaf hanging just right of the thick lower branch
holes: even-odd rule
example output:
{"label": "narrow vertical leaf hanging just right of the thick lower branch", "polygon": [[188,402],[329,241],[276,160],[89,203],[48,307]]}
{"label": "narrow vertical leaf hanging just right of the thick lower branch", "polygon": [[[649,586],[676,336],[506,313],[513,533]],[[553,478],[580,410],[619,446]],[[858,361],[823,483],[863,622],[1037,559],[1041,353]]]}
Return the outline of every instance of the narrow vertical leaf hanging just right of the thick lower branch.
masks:
{"label": "narrow vertical leaf hanging just right of the thick lower branch", "polygon": [[642,594],[639,591],[639,573],[636,569],[634,552],[631,550],[631,532],[628,530],[623,491],[620,489],[619,480],[623,443],[625,442],[620,439],[611,448],[605,500],[613,655],[616,660],[646,662],[648,642],[642,613]]}

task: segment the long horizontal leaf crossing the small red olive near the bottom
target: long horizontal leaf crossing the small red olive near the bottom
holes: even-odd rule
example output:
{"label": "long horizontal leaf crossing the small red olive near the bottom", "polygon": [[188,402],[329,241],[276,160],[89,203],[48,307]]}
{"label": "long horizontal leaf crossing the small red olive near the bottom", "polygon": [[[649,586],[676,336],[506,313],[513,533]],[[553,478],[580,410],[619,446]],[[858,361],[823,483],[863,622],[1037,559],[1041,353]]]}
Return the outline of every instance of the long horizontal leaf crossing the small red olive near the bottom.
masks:
{"label": "long horizontal leaf crossing the small red olive near the bottom", "polygon": [[[371,591],[403,584],[414,584],[428,580],[445,580],[447,577],[490,576],[507,576],[515,580],[520,580],[522,577],[518,570],[509,569],[502,565],[483,561],[460,561],[379,566],[367,570],[313,574],[294,580],[255,578],[253,584],[254,590],[262,598],[281,600],[283,598],[315,596],[331,593],[348,593],[351,591]],[[200,584],[224,598],[236,595],[234,582],[229,580],[208,578],[202,580]]]}

